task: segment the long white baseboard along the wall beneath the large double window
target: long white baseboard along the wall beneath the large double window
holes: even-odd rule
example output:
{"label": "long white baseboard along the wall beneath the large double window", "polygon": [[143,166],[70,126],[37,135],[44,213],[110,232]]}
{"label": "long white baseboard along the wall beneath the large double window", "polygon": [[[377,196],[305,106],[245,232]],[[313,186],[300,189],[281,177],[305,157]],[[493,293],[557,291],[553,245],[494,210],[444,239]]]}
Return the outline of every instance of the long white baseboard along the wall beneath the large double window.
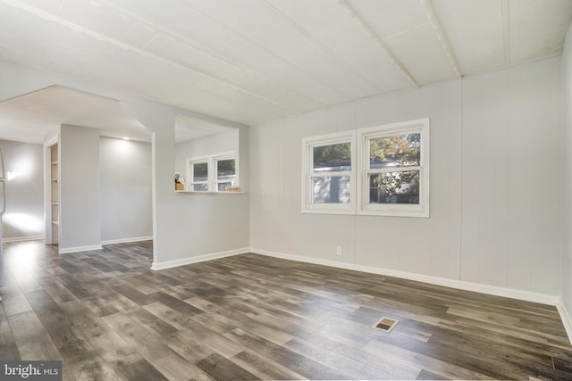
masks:
{"label": "long white baseboard along the wall beneath the large double window", "polygon": [[329,261],[321,260],[317,258],[304,257],[302,255],[286,254],[286,253],[276,253],[267,250],[261,250],[256,248],[250,248],[250,253],[256,253],[261,255],[266,255],[275,258],[282,258],[284,260],[290,261],[301,261],[307,263],[314,263],[318,265],[331,266],[339,269],[351,269],[356,271],[363,271],[371,274],[385,275],[388,277],[400,277],[409,280],[415,280],[417,282],[424,282],[436,286],[445,286],[451,288],[457,288],[459,290],[473,291],[475,293],[491,294],[495,296],[503,296],[512,299],[518,299],[526,302],[537,302],[542,304],[548,304],[551,306],[557,305],[559,302],[559,297],[549,294],[533,293],[530,291],[521,291],[513,288],[481,285],[478,283],[465,282],[462,280],[448,279],[445,277],[432,277],[422,274],[415,274],[405,271],[398,271],[392,269],[382,269],[374,268],[370,266],[357,265],[353,263],[344,263],[339,261]]}

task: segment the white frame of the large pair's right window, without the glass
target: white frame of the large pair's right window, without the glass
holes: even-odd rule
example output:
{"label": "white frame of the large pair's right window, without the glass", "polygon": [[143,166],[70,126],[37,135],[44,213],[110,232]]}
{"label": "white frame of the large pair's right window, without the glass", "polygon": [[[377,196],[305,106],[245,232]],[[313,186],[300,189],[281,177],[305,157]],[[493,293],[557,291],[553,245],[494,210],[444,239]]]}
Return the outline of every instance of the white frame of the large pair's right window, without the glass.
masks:
{"label": "white frame of the large pair's right window, without the glass", "polygon": [[[421,163],[413,167],[400,167],[388,170],[369,170],[369,141],[377,137],[393,137],[407,133],[421,134]],[[357,157],[359,162],[359,187],[357,214],[398,217],[429,217],[429,119],[408,120],[357,130]],[[419,171],[419,203],[368,203],[369,174],[383,172]]]}

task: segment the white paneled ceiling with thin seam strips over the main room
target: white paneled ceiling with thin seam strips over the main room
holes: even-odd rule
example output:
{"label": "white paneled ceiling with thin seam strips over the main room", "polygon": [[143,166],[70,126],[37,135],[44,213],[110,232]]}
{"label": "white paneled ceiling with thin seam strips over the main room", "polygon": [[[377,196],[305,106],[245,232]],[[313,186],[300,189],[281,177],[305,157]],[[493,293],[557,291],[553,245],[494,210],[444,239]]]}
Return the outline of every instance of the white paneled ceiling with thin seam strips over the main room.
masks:
{"label": "white paneled ceiling with thin seam strips over the main room", "polygon": [[[0,0],[0,60],[258,125],[558,53],[570,20],[572,0]],[[26,97],[15,137],[66,113]]]}

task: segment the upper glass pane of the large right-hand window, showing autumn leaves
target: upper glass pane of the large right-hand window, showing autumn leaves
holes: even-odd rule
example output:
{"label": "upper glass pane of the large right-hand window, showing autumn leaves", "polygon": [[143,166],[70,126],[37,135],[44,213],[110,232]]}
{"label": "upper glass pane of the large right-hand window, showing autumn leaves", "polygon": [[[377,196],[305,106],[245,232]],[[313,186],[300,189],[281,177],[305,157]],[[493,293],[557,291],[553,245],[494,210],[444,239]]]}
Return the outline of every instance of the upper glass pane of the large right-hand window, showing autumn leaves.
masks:
{"label": "upper glass pane of the large right-hand window, showing autumn leaves", "polygon": [[369,140],[369,168],[412,167],[421,164],[421,134]]}

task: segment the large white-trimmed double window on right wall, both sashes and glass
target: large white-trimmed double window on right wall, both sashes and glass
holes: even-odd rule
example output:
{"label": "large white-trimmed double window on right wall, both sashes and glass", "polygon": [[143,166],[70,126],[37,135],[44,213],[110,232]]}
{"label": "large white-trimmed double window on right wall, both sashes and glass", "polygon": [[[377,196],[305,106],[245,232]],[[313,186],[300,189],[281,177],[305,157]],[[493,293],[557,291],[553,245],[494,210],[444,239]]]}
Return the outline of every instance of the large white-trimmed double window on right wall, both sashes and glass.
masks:
{"label": "large white-trimmed double window on right wall, both sashes and glass", "polygon": [[302,145],[303,212],[429,217],[428,119]]}

